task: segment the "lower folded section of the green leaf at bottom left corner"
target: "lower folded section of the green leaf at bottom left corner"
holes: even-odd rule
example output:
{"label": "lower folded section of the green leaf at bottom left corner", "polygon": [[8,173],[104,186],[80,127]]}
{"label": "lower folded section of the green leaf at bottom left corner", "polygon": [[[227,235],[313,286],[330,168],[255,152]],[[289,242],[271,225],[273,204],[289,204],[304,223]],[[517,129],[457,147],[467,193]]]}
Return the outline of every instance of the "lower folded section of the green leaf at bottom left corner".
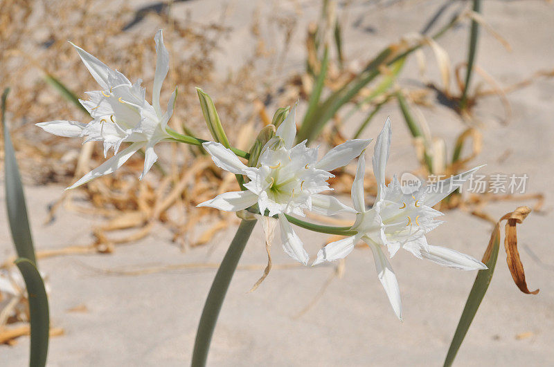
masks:
{"label": "lower folded section of the green leaf at bottom left corner", "polygon": [[37,267],[28,258],[18,258],[15,265],[23,276],[27,288],[30,314],[30,367],[46,366],[50,315],[44,282]]}

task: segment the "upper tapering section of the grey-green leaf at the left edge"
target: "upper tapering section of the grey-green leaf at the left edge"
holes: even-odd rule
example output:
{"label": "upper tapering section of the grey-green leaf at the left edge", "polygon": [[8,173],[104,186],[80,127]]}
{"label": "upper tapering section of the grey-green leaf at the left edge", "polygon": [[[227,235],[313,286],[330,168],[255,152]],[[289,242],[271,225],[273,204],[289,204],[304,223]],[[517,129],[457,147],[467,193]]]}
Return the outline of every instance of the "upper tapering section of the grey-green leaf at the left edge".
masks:
{"label": "upper tapering section of the grey-green leaf at the left edge", "polygon": [[6,208],[8,210],[8,221],[12,232],[13,243],[17,256],[28,258],[33,263],[35,259],[35,249],[33,248],[33,238],[30,234],[29,220],[27,217],[27,207],[25,205],[25,194],[23,185],[21,185],[21,176],[15,160],[15,150],[13,149],[10,131],[6,126],[6,98],[10,88],[6,88],[2,94],[2,128],[4,133],[4,177],[6,186]]}

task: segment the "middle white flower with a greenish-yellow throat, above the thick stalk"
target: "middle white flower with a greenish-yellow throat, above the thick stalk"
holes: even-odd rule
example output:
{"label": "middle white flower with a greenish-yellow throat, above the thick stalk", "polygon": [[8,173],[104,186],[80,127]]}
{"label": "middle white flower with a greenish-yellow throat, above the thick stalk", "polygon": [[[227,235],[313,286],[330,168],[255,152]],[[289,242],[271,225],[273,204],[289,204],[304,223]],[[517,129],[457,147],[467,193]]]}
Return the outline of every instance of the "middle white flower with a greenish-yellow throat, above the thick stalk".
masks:
{"label": "middle white flower with a greenish-yellow throat, above the thick stalk", "polygon": [[305,141],[293,147],[296,137],[295,113],[296,106],[279,125],[276,136],[265,144],[258,167],[247,167],[222,144],[202,144],[218,167],[246,175],[250,182],[244,185],[247,189],[245,191],[226,192],[198,206],[238,211],[257,203],[261,214],[267,209],[269,216],[278,215],[285,252],[306,265],[310,257],[284,214],[304,216],[304,210],[329,216],[345,211],[354,213],[352,208],[337,198],[319,193],[332,190],[327,180],[334,176],[329,171],[359,156],[370,140],[348,140],[317,160],[318,148],[307,148]]}

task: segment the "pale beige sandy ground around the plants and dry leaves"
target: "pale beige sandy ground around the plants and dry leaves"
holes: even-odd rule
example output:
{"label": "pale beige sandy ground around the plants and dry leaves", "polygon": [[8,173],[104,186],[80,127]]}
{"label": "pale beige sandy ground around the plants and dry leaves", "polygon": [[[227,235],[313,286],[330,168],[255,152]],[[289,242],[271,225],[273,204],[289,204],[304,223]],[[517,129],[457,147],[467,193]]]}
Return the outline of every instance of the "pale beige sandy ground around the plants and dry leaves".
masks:
{"label": "pale beige sandy ground around the plants and dry leaves", "polygon": [[[176,12],[190,10],[197,21],[217,19],[219,1],[188,1]],[[293,35],[285,68],[303,67],[305,23],[319,13],[317,1],[256,3],[231,1],[227,24],[233,27],[222,49],[220,70],[232,60],[246,57],[251,48],[249,20],[256,6],[262,14],[272,11],[302,16]],[[350,60],[364,60],[379,48],[422,28],[440,2],[409,2],[379,10],[364,3],[350,7],[346,29],[346,53]],[[422,14],[422,15],[420,15]],[[543,1],[486,1],[485,19],[510,42],[506,52],[486,32],[479,49],[479,65],[502,83],[509,84],[540,68],[551,68],[554,59],[554,11]],[[425,16],[423,16],[425,15]],[[357,25],[356,25],[357,24]],[[360,26],[361,24],[361,26]],[[370,27],[370,31],[368,31]],[[440,41],[454,62],[465,57],[467,28],[460,27]],[[460,44],[460,42],[462,42]],[[242,47],[238,47],[242,45]],[[462,45],[462,46],[460,46]],[[427,53],[427,55],[431,55]],[[415,63],[403,75],[414,75]],[[431,77],[434,77],[431,73]],[[406,78],[404,82],[408,83]],[[487,163],[484,173],[527,173],[528,192],[545,192],[547,214],[531,214],[519,227],[521,258],[530,289],[537,296],[517,290],[501,250],[488,294],[458,353],[458,366],[546,366],[554,364],[554,250],[551,245],[552,205],[547,188],[553,172],[554,125],[551,81],[537,82],[510,95],[513,117],[508,126],[496,98],[482,100],[483,153],[475,164]],[[302,106],[301,106],[302,107]],[[413,148],[397,107],[386,106],[366,131],[375,138],[386,115],[393,120],[393,147],[388,174],[415,167]],[[449,147],[464,127],[450,111],[425,111],[435,135]],[[449,120],[456,121],[450,122]],[[448,123],[445,123],[447,121]],[[347,126],[348,129],[354,129]],[[510,149],[508,160],[500,160]],[[548,167],[548,169],[545,169]],[[26,187],[36,247],[59,248],[84,244],[98,218],[60,211],[55,223],[44,225],[46,206],[62,194],[63,187]],[[3,201],[3,189],[1,190]],[[517,205],[499,203],[488,211],[499,217]],[[481,257],[491,226],[461,211],[451,211],[447,223],[429,235],[430,243],[447,245]],[[298,233],[312,256],[325,236]],[[112,255],[48,258],[40,263],[51,284],[52,324],[66,334],[51,339],[49,366],[181,366],[188,364],[197,322],[215,270],[172,270],[138,276],[109,275],[101,270],[143,268],[177,263],[217,263],[233,229],[211,245],[181,252],[165,230],[139,243],[118,247]],[[256,227],[241,263],[265,264],[262,229]],[[310,241],[308,241],[310,238]],[[0,257],[12,255],[6,214],[0,211]],[[536,256],[530,254],[532,251]],[[274,264],[290,263],[276,245]],[[540,261],[537,261],[539,258]],[[323,297],[298,317],[333,272],[331,266],[274,270],[256,292],[247,293],[262,270],[235,274],[215,330],[208,363],[213,366],[437,366],[447,352],[458,317],[474,281],[473,272],[461,272],[420,261],[409,254],[393,258],[402,292],[404,322],[393,314],[377,277],[368,250],[355,250],[346,261],[343,279],[334,279]],[[84,305],[87,312],[69,312]],[[526,338],[518,335],[526,333]],[[22,366],[28,358],[28,338],[15,347],[0,346],[1,366]]]}

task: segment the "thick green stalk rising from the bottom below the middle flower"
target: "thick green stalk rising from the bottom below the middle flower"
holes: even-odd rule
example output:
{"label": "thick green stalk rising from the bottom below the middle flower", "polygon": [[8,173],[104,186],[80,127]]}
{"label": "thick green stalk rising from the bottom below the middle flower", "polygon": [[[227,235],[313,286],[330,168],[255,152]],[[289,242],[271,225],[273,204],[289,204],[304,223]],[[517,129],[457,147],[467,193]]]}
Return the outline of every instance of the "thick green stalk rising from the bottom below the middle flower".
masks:
{"label": "thick green stalk rising from the bottom below the middle flower", "polygon": [[225,294],[229,289],[229,283],[231,283],[244,246],[247,244],[255,225],[256,220],[242,220],[240,222],[235,238],[233,238],[231,245],[229,245],[220,268],[217,270],[217,274],[215,274],[196,333],[193,361],[191,364],[193,367],[206,366],[208,350],[210,349],[210,342],[217,317],[220,314]]}

